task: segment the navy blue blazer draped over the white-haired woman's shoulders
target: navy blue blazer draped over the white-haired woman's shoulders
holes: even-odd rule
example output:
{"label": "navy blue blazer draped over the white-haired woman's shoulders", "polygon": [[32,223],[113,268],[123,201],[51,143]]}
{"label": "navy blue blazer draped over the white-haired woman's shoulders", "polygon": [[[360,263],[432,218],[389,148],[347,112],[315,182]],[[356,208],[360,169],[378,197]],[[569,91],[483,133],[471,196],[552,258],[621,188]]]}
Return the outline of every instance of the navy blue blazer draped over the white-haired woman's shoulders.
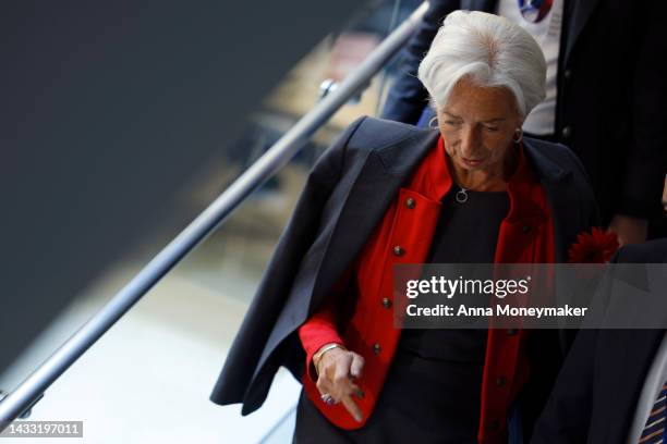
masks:
{"label": "navy blue blazer draped over the white-haired woman's shoulders", "polygon": [[[400,186],[438,137],[437,130],[361,118],[324,152],[280,236],[211,402],[243,403],[242,415],[247,415],[262,406],[280,366],[301,380],[305,353],[296,329],[344,275]],[[557,261],[566,261],[577,234],[599,222],[593,192],[568,148],[527,138],[524,147],[553,212]],[[553,346],[546,345],[548,341]],[[539,407],[527,410],[542,408],[568,343],[566,335],[554,335],[535,345],[535,351],[545,356],[535,360],[544,369],[534,374],[544,381],[533,380],[531,393]]]}

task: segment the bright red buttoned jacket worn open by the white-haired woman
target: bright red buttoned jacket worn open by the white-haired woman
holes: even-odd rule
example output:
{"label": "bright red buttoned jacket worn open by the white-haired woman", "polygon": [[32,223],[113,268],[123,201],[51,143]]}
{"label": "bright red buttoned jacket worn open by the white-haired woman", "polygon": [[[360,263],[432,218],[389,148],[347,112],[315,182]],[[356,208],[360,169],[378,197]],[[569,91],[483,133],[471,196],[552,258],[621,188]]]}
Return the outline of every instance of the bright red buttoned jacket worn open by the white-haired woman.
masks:
{"label": "bright red buttoned jacket worn open by the white-haired woman", "polygon": [[[507,188],[510,210],[500,225],[495,262],[554,262],[554,223],[546,195],[525,161],[523,148],[518,149],[519,166]],[[306,371],[302,378],[305,393],[329,421],[342,429],[364,425],[383,387],[401,333],[393,328],[392,266],[422,263],[428,254],[440,200],[452,184],[446,156],[440,137],[412,173],[409,184],[400,189],[352,264],[357,276],[359,298],[351,319],[337,324],[337,301],[329,298],[299,329],[306,351]],[[402,248],[400,256],[395,252],[396,246]],[[525,336],[525,331],[488,331],[480,443],[506,440],[508,407],[529,375],[529,362],[523,353]],[[364,357],[363,375],[357,384],[365,396],[355,399],[364,417],[361,423],[341,404],[327,406],[319,397],[311,362],[313,354],[327,343],[343,344]]]}

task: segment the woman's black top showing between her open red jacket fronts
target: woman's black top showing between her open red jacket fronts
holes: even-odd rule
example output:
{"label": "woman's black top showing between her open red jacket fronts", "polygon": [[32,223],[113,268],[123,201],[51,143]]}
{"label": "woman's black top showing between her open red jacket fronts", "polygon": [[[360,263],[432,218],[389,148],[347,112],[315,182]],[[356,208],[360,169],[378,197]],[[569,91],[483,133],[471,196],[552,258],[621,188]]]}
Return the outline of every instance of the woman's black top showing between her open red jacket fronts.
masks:
{"label": "woman's black top showing between her open red jacket fronts", "polygon": [[[452,187],[442,199],[426,262],[492,263],[509,196],[506,192],[468,192],[468,200],[460,203],[458,190]],[[423,418],[424,428],[437,431],[437,441],[476,442],[487,334],[486,329],[401,332],[396,366],[385,387],[402,385],[403,390],[392,392],[401,393],[403,402],[417,409],[414,414]],[[408,396],[412,399],[405,399]]]}

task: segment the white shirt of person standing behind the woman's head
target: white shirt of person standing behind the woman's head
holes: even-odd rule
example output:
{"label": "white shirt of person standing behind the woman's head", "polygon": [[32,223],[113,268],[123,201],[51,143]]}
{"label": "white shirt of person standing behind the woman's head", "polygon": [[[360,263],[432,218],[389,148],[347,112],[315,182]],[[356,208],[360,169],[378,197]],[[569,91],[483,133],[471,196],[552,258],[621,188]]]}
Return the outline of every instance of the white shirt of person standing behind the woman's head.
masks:
{"label": "white shirt of person standing behind the woman's head", "polygon": [[[496,13],[527,30],[542,48],[547,64],[546,98],[526,116],[523,130],[535,135],[555,133],[556,126],[556,79],[558,76],[558,51],[562,25],[563,0],[553,0],[550,11],[537,23],[523,17],[519,0],[499,0]],[[531,0],[524,0],[530,4]]]}

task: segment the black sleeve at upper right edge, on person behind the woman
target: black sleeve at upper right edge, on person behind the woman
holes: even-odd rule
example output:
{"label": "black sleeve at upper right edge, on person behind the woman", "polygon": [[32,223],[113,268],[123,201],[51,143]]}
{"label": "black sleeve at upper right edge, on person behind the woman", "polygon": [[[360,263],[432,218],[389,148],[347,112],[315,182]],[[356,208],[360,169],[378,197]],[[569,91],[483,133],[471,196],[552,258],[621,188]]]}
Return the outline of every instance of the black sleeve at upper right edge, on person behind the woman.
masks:
{"label": "black sleeve at upper right edge, on person behind the woman", "polygon": [[[658,62],[667,53],[664,17],[667,3],[652,2],[638,59],[632,90],[632,145],[622,178],[617,211],[639,218],[659,217],[660,195],[667,173],[667,65]],[[658,11],[656,11],[658,9]]]}

